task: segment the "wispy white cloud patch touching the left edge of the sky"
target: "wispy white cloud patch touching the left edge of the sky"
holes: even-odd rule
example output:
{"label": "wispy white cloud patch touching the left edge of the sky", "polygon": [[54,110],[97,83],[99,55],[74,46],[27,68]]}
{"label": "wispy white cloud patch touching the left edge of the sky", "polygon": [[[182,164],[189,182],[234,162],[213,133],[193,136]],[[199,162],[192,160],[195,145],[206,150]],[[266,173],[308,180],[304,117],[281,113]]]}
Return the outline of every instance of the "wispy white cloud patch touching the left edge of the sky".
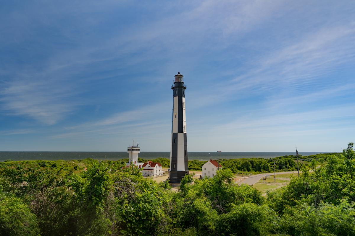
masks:
{"label": "wispy white cloud patch touching the left edge of the sky", "polygon": [[10,115],[25,115],[53,125],[71,113],[77,102],[68,101],[73,90],[48,81],[15,80],[0,89],[0,107]]}

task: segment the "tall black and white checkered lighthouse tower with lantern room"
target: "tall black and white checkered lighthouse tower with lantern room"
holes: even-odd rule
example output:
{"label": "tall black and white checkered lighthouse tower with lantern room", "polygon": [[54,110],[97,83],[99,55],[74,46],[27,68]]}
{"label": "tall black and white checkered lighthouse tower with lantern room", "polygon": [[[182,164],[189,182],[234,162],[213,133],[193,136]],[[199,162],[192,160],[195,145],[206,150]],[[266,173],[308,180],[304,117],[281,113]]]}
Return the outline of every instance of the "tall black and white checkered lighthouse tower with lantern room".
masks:
{"label": "tall black and white checkered lighthouse tower with lantern room", "polygon": [[185,90],[183,75],[180,72],[175,75],[173,100],[173,123],[171,125],[171,148],[170,148],[170,183],[180,183],[185,174],[189,174],[187,162],[186,140],[186,113],[185,113]]}

